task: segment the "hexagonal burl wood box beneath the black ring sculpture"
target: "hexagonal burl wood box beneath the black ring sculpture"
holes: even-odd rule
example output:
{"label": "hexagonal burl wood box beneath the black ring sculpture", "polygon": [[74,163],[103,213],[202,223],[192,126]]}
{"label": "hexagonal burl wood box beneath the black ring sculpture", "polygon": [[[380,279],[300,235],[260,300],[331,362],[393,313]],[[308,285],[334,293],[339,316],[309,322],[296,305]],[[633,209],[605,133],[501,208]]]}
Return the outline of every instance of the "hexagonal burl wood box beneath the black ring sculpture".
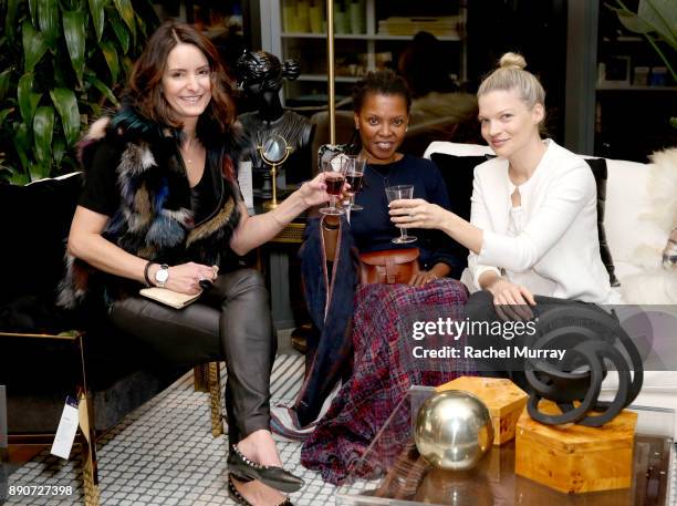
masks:
{"label": "hexagonal burl wood box beneath the black ring sculpture", "polygon": [[[541,401],[544,413],[560,413]],[[602,427],[518,421],[514,472],[566,494],[627,488],[633,478],[637,413],[624,410]]]}

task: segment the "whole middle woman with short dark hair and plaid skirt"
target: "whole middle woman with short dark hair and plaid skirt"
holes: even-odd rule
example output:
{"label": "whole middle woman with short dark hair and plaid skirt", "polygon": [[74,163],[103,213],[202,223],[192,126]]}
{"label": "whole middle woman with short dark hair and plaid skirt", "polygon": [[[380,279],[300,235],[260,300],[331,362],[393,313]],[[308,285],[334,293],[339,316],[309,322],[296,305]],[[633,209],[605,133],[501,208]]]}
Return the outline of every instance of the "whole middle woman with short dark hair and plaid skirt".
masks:
{"label": "whole middle woman with short dark hair and plaid skirt", "polygon": [[[309,342],[304,385],[288,412],[298,431],[289,431],[277,407],[273,428],[306,437],[301,462],[332,483],[346,476],[410,385],[440,384],[469,372],[462,361],[423,358],[424,348],[454,345],[452,339],[436,344],[436,337],[424,343],[412,339],[420,321],[456,319],[466,290],[449,278],[460,275],[460,252],[448,237],[413,229],[413,245],[392,242],[397,229],[389,220],[386,187],[413,185],[414,196],[450,205],[435,164],[397,151],[410,102],[406,83],[393,72],[369,73],[355,86],[353,151],[366,158],[356,203],[364,209],[351,213],[350,224],[331,216],[311,223],[303,246],[306,301],[322,333]],[[351,249],[365,254],[412,246],[419,250],[419,272],[402,283],[355,286]],[[322,404],[338,380],[341,390],[322,416]]]}

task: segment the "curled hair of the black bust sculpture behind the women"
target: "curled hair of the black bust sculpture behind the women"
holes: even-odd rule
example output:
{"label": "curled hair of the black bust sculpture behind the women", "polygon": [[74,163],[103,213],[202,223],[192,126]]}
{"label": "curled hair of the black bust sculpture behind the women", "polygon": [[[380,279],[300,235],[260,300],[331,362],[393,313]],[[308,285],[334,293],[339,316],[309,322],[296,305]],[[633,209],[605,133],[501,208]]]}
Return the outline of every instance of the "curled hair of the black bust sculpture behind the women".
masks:
{"label": "curled hair of the black bust sculpture behind the women", "polygon": [[240,82],[247,86],[261,83],[263,91],[278,91],[282,80],[295,80],[301,73],[301,66],[293,60],[280,63],[274,54],[265,51],[244,51],[236,65]]}

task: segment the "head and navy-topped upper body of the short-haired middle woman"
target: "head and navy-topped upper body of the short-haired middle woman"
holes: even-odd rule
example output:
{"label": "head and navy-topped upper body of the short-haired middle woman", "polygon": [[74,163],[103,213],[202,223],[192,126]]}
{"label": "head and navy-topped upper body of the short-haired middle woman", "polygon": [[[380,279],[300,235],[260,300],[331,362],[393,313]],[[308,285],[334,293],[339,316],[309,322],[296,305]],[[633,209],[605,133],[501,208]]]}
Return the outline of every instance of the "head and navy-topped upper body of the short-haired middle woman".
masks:
{"label": "head and navy-topped upper body of the short-haired middle woman", "polygon": [[[355,197],[366,211],[351,215],[351,234],[360,252],[394,248],[394,228],[385,194],[387,186],[414,185],[414,195],[427,195],[441,207],[450,206],[447,186],[435,164],[397,151],[408,130],[410,106],[408,86],[389,71],[367,75],[353,90],[355,140],[352,151],[366,158],[364,188]],[[410,285],[418,287],[447,276],[460,276],[462,251],[456,242],[436,231],[412,230],[410,234],[418,239],[409,247],[420,250],[421,268],[409,280]]]}

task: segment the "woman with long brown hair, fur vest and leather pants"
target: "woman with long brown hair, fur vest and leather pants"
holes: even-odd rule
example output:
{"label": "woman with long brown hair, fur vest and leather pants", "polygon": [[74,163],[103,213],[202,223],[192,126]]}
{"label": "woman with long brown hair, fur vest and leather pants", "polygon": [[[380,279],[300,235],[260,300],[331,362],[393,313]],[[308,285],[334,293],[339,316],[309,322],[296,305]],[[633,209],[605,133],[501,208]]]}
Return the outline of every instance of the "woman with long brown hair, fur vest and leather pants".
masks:
{"label": "woman with long brown hair, fur vest and leather pants", "polygon": [[[216,49],[166,23],[132,72],[124,106],[84,138],[86,182],[69,237],[65,307],[98,308],[142,347],[177,365],[222,360],[228,489],[240,504],[291,504],[303,481],[281,467],[269,431],[275,354],[268,293],[238,256],[327,199],[322,176],[274,210],[248,216],[236,172],[242,135]],[[175,310],[143,286],[201,297]]]}

